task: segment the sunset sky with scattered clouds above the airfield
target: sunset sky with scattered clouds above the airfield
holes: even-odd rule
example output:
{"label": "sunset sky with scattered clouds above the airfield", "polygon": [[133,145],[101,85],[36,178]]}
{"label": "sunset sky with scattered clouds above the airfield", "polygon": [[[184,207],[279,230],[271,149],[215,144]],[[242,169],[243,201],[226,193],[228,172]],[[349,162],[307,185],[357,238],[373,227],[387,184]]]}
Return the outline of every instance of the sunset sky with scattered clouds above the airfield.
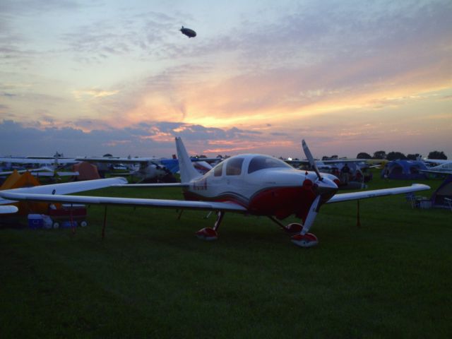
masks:
{"label": "sunset sky with scattered clouds above the airfield", "polygon": [[0,0],[0,155],[168,157],[175,136],[451,159],[452,1]]}

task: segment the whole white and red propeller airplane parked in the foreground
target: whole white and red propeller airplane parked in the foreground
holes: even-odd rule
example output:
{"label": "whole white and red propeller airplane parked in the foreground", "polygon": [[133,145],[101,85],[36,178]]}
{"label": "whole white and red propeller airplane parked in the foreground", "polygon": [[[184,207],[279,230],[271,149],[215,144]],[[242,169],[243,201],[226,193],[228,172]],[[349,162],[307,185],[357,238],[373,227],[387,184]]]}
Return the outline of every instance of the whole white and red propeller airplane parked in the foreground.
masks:
{"label": "whole white and red propeller airplane parked in the foreground", "polygon": [[[235,155],[220,162],[208,173],[201,175],[192,165],[180,138],[176,138],[181,182],[174,184],[128,184],[119,186],[162,187],[180,186],[186,201],[147,198],[112,198],[100,196],[65,196],[61,194],[33,194],[29,192],[2,192],[0,196],[11,201],[49,201],[61,203],[114,204],[127,206],[152,206],[160,208],[211,210],[217,214],[213,228],[196,232],[201,239],[218,238],[218,227],[225,212],[265,215],[287,232],[293,233],[292,242],[309,247],[318,243],[309,229],[324,203],[336,203],[362,198],[430,189],[424,184],[336,194],[338,178],[319,172],[309,148],[303,141],[314,172],[294,169],[283,160],[268,155]],[[283,220],[296,215],[302,223],[283,225]]]}

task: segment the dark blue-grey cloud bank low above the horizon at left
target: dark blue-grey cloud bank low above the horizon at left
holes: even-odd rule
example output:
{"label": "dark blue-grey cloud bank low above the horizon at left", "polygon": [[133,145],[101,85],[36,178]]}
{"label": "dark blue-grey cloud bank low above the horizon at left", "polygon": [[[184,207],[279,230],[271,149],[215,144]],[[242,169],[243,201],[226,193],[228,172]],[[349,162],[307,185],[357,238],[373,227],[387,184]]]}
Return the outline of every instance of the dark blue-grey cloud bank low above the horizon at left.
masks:
{"label": "dark blue-grey cloud bank low above the horizon at left", "polygon": [[[49,122],[49,121],[47,121]],[[89,126],[93,121],[77,124]],[[256,132],[243,129],[215,129],[201,125],[160,122],[138,124],[124,129],[82,129],[45,127],[40,121],[23,126],[13,120],[0,123],[0,154],[53,154],[55,150],[66,155],[141,155],[169,156],[174,153],[174,137],[180,136],[187,147],[203,150],[208,141],[226,140],[236,143],[256,140]],[[161,138],[164,135],[165,138]],[[32,141],[32,142],[30,142]]]}

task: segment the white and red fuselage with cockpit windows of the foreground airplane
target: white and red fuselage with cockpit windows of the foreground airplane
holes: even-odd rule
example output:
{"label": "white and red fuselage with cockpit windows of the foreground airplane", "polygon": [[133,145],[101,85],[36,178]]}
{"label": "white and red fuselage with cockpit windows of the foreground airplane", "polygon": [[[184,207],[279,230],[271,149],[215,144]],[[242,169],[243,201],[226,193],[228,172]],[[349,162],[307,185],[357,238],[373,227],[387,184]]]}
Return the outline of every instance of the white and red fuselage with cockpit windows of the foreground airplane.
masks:
{"label": "white and red fuselage with cockpit windows of the foreground airplane", "polygon": [[316,196],[325,203],[337,191],[337,183],[331,174],[323,174],[319,182],[315,172],[294,169],[267,155],[237,155],[192,180],[184,196],[237,203],[254,215],[283,219],[295,214],[304,219]]}

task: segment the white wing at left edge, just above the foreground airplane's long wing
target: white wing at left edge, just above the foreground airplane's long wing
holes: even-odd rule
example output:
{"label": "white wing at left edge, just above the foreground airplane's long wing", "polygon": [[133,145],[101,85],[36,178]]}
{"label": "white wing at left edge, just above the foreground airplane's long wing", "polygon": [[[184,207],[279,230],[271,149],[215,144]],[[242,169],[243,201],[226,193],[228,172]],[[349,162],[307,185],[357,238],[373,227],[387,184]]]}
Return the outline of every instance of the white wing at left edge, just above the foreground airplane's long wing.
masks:
{"label": "white wing at left edge, just above the foreground airplane's long wing", "polygon": [[124,178],[108,178],[87,180],[85,182],[66,182],[64,184],[51,184],[33,187],[23,187],[21,189],[5,189],[0,191],[0,205],[14,203],[17,200],[5,198],[8,194],[40,194],[44,196],[54,196],[60,194],[70,194],[83,191],[90,191],[93,189],[103,189],[114,184],[125,184],[127,182]]}

